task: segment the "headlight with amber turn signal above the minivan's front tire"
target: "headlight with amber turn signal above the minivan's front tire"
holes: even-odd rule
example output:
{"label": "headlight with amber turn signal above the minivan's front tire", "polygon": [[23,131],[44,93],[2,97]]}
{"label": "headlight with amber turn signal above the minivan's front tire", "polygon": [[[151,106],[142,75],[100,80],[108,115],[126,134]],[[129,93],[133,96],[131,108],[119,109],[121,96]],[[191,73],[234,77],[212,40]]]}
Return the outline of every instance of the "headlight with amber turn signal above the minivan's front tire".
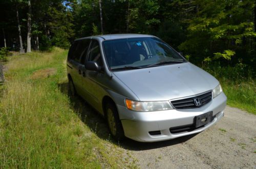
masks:
{"label": "headlight with amber turn signal above the minivan's front tire", "polygon": [[137,102],[125,99],[126,107],[133,111],[160,111],[173,109],[168,101],[161,102]]}

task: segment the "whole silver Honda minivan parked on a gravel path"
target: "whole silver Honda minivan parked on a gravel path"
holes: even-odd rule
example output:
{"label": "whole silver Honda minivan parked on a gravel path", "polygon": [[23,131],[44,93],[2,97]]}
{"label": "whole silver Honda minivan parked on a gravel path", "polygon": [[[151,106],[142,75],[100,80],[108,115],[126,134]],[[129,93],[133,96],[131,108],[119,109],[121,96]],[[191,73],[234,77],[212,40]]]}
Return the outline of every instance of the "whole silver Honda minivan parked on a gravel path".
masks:
{"label": "whole silver Honda minivan parked on a gravel path", "polygon": [[153,142],[199,133],[224,115],[218,80],[161,39],[114,34],[76,39],[70,91],[102,114],[112,136]]}

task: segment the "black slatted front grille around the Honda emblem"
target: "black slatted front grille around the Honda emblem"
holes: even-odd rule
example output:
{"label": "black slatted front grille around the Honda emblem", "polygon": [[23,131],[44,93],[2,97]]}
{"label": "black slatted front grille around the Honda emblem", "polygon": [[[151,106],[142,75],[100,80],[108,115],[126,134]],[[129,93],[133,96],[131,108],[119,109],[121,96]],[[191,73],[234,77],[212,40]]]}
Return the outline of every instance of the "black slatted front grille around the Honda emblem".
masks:
{"label": "black slatted front grille around the Honda emblem", "polygon": [[[181,100],[176,100],[176,101],[171,101],[172,105],[174,106],[175,109],[180,109],[180,110],[185,110],[185,109],[196,109],[199,107],[202,107],[203,105],[209,103],[211,101],[211,91],[197,95],[191,98],[187,99],[181,99]],[[200,101],[200,105],[196,106],[195,99]]]}

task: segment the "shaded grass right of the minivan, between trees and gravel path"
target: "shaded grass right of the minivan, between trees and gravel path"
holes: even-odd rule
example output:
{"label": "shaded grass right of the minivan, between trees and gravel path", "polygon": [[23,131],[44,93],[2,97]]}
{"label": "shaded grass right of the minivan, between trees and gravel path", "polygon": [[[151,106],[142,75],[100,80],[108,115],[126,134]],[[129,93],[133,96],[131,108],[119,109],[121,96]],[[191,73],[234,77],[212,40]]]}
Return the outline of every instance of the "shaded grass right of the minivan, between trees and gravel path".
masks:
{"label": "shaded grass right of the minivan, between trees and gravel path", "polygon": [[246,65],[208,66],[204,69],[220,81],[228,105],[256,114],[255,75]]}

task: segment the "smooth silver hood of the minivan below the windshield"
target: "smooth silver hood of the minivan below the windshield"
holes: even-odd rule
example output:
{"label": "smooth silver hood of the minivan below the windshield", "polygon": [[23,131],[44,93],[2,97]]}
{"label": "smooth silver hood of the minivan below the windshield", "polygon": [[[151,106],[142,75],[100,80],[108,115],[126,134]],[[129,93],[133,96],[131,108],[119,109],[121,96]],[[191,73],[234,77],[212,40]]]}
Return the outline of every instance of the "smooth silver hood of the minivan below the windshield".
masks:
{"label": "smooth silver hood of the minivan below the windshield", "polygon": [[186,62],[113,74],[129,87],[140,101],[167,101],[214,89],[219,82],[201,68]]}

